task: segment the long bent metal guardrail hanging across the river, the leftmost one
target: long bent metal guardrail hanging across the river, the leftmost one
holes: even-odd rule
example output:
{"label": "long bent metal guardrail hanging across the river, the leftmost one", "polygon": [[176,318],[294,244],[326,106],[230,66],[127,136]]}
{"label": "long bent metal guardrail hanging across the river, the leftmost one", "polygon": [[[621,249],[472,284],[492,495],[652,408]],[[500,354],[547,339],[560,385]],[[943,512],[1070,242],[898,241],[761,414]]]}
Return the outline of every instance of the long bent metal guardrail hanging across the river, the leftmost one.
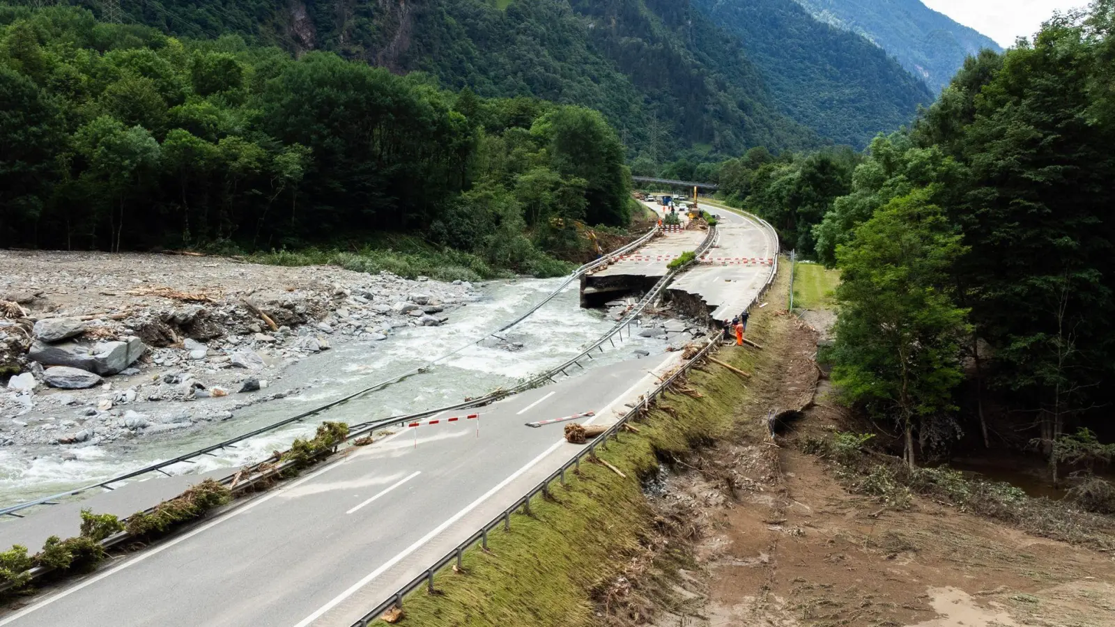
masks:
{"label": "long bent metal guardrail hanging across the river, the leftmost one", "polygon": [[[391,377],[390,379],[387,379],[387,380],[384,380],[384,382],[379,382],[379,383],[377,383],[375,385],[365,387],[365,388],[359,389],[359,390],[357,390],[357,392],[355,392],[352,394],[349,394],[349,395],[347,395],[347,396],[345,396],[342,398],[339,398],[339,399],[336,399],[336,401],[331,401],[329,403],[326,403],[324,405],[319,405],[318,407],[313,407],[312,409],[308,409],[306,412],[302,412],[302,413],[300,413],[298,415],[294,415],[294,416],[291,416],[289,418],[283,418],[281,421],[278,421],[278,422],[264,425],[264,426],[262,426],[260,428],[256,428],[254,431],[251,431],[249,433],[244,433],[244,434],[237,435],[235,437],[231,437],[231,438],[225,440],[223,442],[219,442],[216,444],[212,444],[212,445],[205,446],[203,448],[198,448],[196,451],[191,451],[190,453],[185,453],[185,454],[178,455],[178,456],[169,459],[169,460],[164,460],[162,462],[157,462],[157,463],[144,466],[142,469],[137,469],[135,471],[130,471],[130,472],[127,472],[127,473],[124,473],[124,474],[120,474],[120,475],[116,475],[116,476],[114,476],[112,479],[108,479],[108,480],[105,480],[105,481],[100,481],[100,482],[97,482],[97,483],[91,483],[89,485],[84,485],[84,486],[80,486],[80,488],[75,488],[75,489],[68,490],[66,492],[59,492],[57,494],[51,494],[49,496],[40,496],[38,499],[33,499],[33,500],[30,500],[30,501],[25,501],[25,502],[21,502],[21,503],[16,503],[16,504],[12,504],[12,505],[7,505],[7,507],[3,507],[3,508],[0,508],[0,515],[11,515],[11,517],[16,517],[16,518],[22,518],[22,517],[20,517],[16,512],[19,512],[21,510],[26,510],[28,508],[33,508],[36,505],[56,504],[55,501],[57,501],[59,499],[64,499],[66,496],[74,496],[74,495],[80,494],[83,492],[88,492],[89,490],[97,490],[97,489],[114,490],[114,488],[112,488],[112,485],[110,485],[113,483],[119,483],[122,481],[127,481],[128,479],[134,479],[136,476],[140,476],[140,475],[144,475],[144,474],[147,474],[147,473],[152,473],[152,472],[161,472],[161,473],[166,474],[166,475],[169,476],[169,473],[167,473],[163,469],[166,469],[166,467],[172,466],[174,464],[190,463],[195,457],[200,457],[202,455],[211,455],[211,454],[213,454],[214,451],[220,451],[220,450],[223,450],[223,448],[232,447],[236,443],[243,442],[244,440],[250,440],[252,437],[255,437],[258,435],[262,435],[264,433],[269,433],[269,432],[274,431],[277,428],[287,426],[289,424],[303,421],[303,419],[306,419],[306,418],[308,418],[310,416],[313,416],[316,414],[324,412],[326,409],[329,409],[331,407],[336,407],[337,405],[340,405],[341,403],[346,403],[346,402],[351,401],[351,399],[353,399],[353,398],[356,398],[358,396],[362,396],[365,394],[368,394],[370,392],[375,392],[377,389],[382,389],[384,387],[387,387],[389,385],[394,385],[396,383],[403,382],[403,380],[405,380],[406,378],[408,378],[410,376],[414,376],[416,374],[426,372],[426,369],[428,369],[429,367],[436,365],[438,361],[447,359],[448,357],[452,357],[453,355],[455,355],[455,354],[464,350],[465,348],[468,348],[469,346],[475,346],[476,344],[483,341],[484,339],[487,339],[488,337],[492,337],[495,334],[503,332],[503,331],[505,331],[505,330],[514,327],[515,325],[518,325],[520,322],[522,322],[523,320],[525,320],[527,317],[530,317],[532,314],[534,314],[535,311],[537,311],[539,309],[541,309],[545,303],[547,303],[551,300],[553,300],[559,293],[561,293],[566,287],[569,287],[569,284],[571,282],[573,282],[574,280],[579,279],[584,273],[590,272],[590,271],[599,268],[602,264],[605,264],[605,263],[609,263],[609,262],[613,261],[617,257],[626,254],[627,252],[629,252],[631,250],[634,250],[634,249],[643,245],[651,238],[653,238],[658,233],[658,231],[659,231],[658,226],[655,226],[650,231],[648,231],[646,234],[643,234],[641,238],[639,238],[638,240],[634,240],[633,242],[630,242],[627,245],[624,245],[622,248],[619,248],[619,249],[617,249],[617,250],[608,253],[607,255],[601,257],[600,259],[597,259],[594,261],[591,261],[589,263],[585,263],[585,264],[581,266],[580,268],[578,268],[576,270],[574,270],[561,283],[561,286],[559,286],[556,289],[554,289],[549,296],[546,296],[540,302],[535,303],[525,314],[523,314],[522,316],[515,318],[511,322],[505,324],[504,326],[500,327],[498,329],[496,329],[496,330],[494,330],[494,331],[492,331],[489,334],[486,334],[484,337],[482,337],[482,338],[479,338],[479,339],[477,339],[477,340],[475,340],[475,341],[473,341],[473,343],[471,343],[468,345],[462,346],[460,348],[457,348],[456,350],[454,350],[452,353],[448,353],[446,355],[443,355],[440,357],[437,357],[436,359],[433,359],[430,361],[426,361],[425,364],[423,364],[420,366],[417,366],[415,368],[411,368],[410,370],[407,370],[407,372],[405,372],[405,373],[403,373],[400,375]],[[443,411],[446,411],[446,409],[456,409],[456,408],[462,408],[462,407],[466,407],[466,406],[475,406],[475,404],[460,404],[460,405],[454,405],[452,407],[440,407],[440,408],[430,409],[430,411],[427,411],[427,412],[419,412],[419,413],[416,413],[416,414],[408,414],[406,416],[397,416],[396,417],[397,419],[390,419],[390,422],[388,424],[395,424],[395,423],[398,423],[398,422],[403,422],[404,419],[409,419],[409,418],[415,418],[415,417],[423,417],[423,416],[435,414],[437,412],[443,412]],[[365,424],[370,424],[370,423],[365,423]],[[365,425],[357,425],[357,426],[365,426]],[[361,433],[367,433],[367,432],[363,431]],[[231,476],[230,476],[230,481],[231,481]]]}

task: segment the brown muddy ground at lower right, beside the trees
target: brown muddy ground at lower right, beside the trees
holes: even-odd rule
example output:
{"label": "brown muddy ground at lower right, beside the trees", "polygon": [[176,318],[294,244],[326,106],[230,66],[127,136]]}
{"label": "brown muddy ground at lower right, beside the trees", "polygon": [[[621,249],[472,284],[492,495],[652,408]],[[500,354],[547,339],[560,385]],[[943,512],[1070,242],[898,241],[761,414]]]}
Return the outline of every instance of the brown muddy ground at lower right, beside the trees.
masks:
{"label": "brown muddy ground at lower right, beside the trees", "polygon": [[[699,528],[695,568],[660,599],[657,627],[1109,627],[1115,559],[915,498],[889,510],[849,493],[796,438],[838,428],[824,397],[777,446],[764,416],[812,395],[818,334],[783,316],[780,367],[756,373],[730,442],[689,463],[736,478],[736,496],[699,473],[670,476],[661,511],[687,501]],[[813,320],[816,321],[816,320]],[[822,382],[825,383],[825,382]]]}

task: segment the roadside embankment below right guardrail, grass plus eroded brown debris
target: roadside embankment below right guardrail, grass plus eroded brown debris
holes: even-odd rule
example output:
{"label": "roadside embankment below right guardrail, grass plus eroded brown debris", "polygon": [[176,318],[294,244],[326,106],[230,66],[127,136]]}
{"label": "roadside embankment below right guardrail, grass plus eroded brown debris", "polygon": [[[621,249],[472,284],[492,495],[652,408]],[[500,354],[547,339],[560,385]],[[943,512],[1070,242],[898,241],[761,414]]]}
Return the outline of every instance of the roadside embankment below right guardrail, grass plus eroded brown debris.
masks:
{"label": "roadside embankment below right guardrail, grass plus eroded brown debris", "polygon": [[[752,319],[748,337],[776,341],[785,320],[773,308]],[[715,354],[759,378],[779,359],[776,350],[726,347]],[[415,592],[400,621],[442,625],[597,625],[646,623],[656,605],[681,602],[678,582],[691,567],[687,549],[699,536],[699,503],[655,503],[644,489],[659,469],[685,467],[697,447],[726,437],[744,421],[750,392],[741,375],[712,361],[690,370],[688,380],[665,394],[656,407],[608,444],[602,464],[582,463],[566,485],[515,515],[510,531],[488,537],[488,550],[465,553],[464,571],[435,578],[437,594]],[[715,467],[700,471],[730,494],[736,480]],[[648,490],[651,491],[651,490]],[[669,499],[669,495],[657,499]],[[681,594],[682,597],[685,594]]]}

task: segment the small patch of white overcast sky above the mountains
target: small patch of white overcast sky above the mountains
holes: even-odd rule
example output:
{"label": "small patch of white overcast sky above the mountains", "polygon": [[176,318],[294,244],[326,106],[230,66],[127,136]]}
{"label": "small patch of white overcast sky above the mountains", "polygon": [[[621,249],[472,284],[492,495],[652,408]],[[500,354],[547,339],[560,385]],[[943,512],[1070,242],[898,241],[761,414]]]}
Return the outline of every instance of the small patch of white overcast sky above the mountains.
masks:
{"label": "small patch of white overcast sky above the mountains", "polygon": [[1087,4],[1087,0],[922,0],[927,7],[975,28],[1004,48],[1018,36],[1029,37],[1056,10]]}

